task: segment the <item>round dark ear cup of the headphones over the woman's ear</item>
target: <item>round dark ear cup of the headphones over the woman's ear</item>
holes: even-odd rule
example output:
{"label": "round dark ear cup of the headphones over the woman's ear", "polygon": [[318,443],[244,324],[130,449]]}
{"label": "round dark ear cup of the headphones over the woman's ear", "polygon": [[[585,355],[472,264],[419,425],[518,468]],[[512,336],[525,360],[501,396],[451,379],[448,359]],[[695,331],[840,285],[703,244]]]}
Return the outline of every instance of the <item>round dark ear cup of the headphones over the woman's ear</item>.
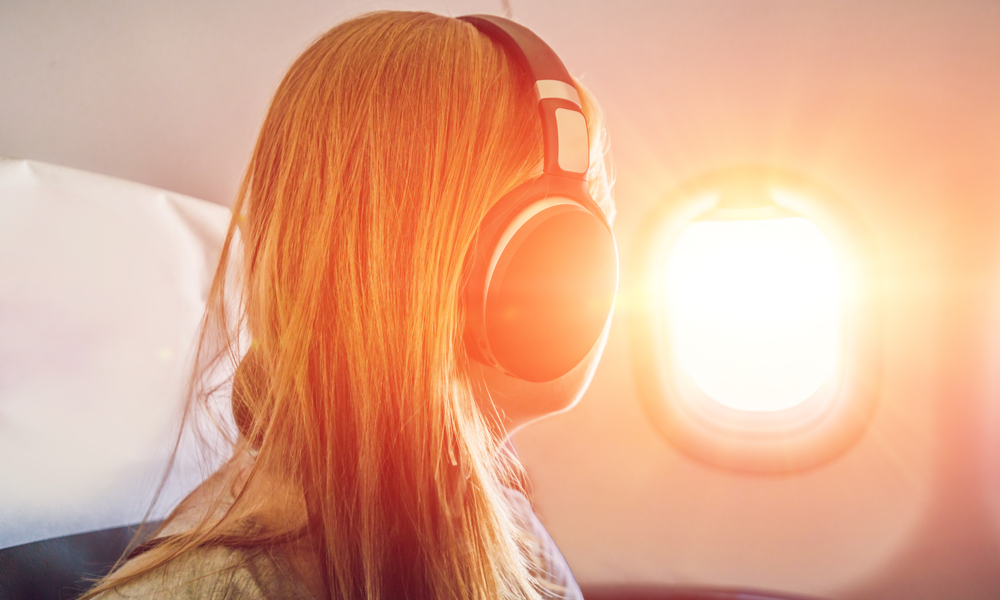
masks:
{"label": "round dark ear cup of the headphones over the woman's ear", "polygon": [[573,369],[614,305],[618,255],[607,226],[579,205],[546,210],[503,248],[486,293],[494,358],[527,381]]}

